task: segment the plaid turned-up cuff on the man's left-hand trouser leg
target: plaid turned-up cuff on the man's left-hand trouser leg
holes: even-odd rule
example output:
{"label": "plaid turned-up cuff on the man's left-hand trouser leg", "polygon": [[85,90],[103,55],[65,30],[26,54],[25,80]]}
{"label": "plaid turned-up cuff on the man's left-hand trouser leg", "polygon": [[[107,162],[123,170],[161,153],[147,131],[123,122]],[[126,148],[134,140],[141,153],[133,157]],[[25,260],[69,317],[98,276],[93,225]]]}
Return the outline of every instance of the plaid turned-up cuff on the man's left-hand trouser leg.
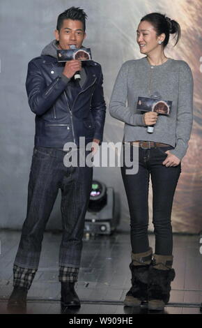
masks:
{"label": "plaid turned-up cuff on the man's left-hand trouser leg", "polygon": [[24,287],[27,290],[31,288],[31,283],[36,274],[37,269],[27,269],[13,266],[13,286]]}

